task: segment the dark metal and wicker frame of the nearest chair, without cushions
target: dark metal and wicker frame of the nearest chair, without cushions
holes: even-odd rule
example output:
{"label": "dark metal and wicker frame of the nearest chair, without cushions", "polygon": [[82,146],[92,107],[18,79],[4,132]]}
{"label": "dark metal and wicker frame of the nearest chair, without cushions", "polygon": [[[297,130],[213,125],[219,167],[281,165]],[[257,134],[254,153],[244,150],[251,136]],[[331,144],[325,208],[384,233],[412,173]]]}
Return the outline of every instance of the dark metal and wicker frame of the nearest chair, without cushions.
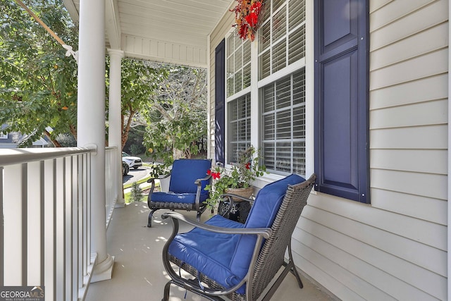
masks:
{"label": "dark metal and wicker frame of the nearest chair, without cushions", "polygon": [[[289,272],[295,275],[299,288],[302,288],[301,278],[299,277],[295,263],[293,262],[291,235],[299,220],[299,216],[302,213],[302,209],[304,209],[304,206],[307,204],[307,198],[309,197],[311,188],[314,186],[315,180],[316,175],[313,174],[308,180],[305,180],[302,183],[288,186],[287,193],[280,205],[280,209],[278,210],[278,214],[271,228],[220,228],[186,219],[185,216],[175,212],[163,214],[163,218],[170,217],[172,219],[173,233],[163,247],[163,265],[168,272],[168,275],[171,277],[171,280],[165,285],[162,300],[168,301],[171,284],[175,284],[181,288],[190,290],[197,295],[201,295],[208,300],[224,300],[221,296],[227,296],[233,301],[254,301],[261,296],[261,293],[264,292],[282,266],[284,266],[282,273],[278,276],[271,288],[267,290],[266,295],[264,295],[261,300],[270,300]],[[206,276],[202,274],[199,275],[199,272],[193,266],[180,262],[179,259],[168,254],[168,247],[179,231],[179,221],[216,233],[257,235],[257,242],[254,246],[252,260],[245,278],[237,285],[226,289],[221,287],[221,285],[218,285],[216,281],[206,278]],[[262,243],[263,246],[261,246]],[[288,262],[285,262],[285,252],[287,251],[287,248]],[[187,279],[180,276],[174,271],[173,264],[190,273],[194,276],[194,279]],[[204,283],[205,285],[201,285],[201,283]],[[243,284],[246,285],[245,295],[236,293],[235,291]]]}

